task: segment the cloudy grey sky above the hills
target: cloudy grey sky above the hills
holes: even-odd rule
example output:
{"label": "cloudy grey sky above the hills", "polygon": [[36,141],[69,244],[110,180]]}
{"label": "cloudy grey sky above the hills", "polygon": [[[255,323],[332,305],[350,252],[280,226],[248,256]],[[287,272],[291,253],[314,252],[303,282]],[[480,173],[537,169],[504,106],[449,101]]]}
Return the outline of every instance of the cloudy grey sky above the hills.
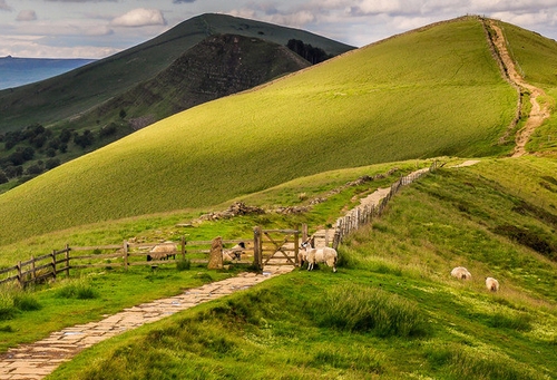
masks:
{"label": "cloudy grey sky above the hills", "polygon": [[557,39],[557,0],[0,0],[0,57],[104,58],[208,12],[355,47],[465,14]]}

